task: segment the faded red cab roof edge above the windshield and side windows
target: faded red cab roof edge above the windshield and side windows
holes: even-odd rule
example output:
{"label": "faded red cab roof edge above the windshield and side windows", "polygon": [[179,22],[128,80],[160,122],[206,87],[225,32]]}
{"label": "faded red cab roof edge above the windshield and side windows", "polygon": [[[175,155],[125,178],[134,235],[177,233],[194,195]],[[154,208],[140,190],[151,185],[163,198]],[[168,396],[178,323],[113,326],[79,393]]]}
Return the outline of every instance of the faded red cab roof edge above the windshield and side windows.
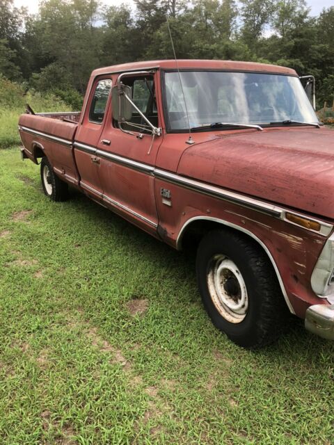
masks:
{"label": "faded red cab roof edge above the windshield and side windows", "polygon": [[[228,70],[228,71],[254,71],[254,72],[272,72],[278,74],[289,74],[296,76],[296,71],[292,68],[280,67],[278,65],[269,65],[267,63],[255,62],[236,62],[234,60],[177,60],[177,65],[182,69],[207,69],[207,70]],[[175,70],[175,60],[148,60],[145,62],[122,63],[121,65],[112,65],[110,67],[98,68],[94,70],[92,76],[101,76],[102,74],[149,70],[149,69]]]}

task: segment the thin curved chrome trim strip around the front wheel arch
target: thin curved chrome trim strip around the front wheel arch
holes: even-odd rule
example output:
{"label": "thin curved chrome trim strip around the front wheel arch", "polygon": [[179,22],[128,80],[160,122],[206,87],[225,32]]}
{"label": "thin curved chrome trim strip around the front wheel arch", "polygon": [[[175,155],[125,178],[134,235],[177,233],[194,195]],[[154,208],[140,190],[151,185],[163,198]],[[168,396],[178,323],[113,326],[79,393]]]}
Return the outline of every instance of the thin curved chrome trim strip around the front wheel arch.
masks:
{"label": "thin curved chrome trim strip around the front wheel arch", "polygon": [[242,232],[248,236],[250,236],[250,238],[253,238],[258,244],[260,244],[260,246],[263,248],[264,252],[266,252],[267,256],[269,257],[271,264],[273,266],[273,269],[275,270],[276,273],[276,277],[278,279],[278,282],[280,284],[280,289],[283,293],[285,302],[287,303],[287,307],[289,308],[289,311],[292,314],[295,314],[294,312],[294,308],[292,307],[292,304],[287,296],[287,291],[285,289],[285,285],[283,283],[282,277],[280,275],[280,271],[278,270],[276,261],[273,259],[273,256],[270,252],[270,250],[267,248],[267,245],[264,244],[264,242],[258,238],[255,234],[253,234],[253,232],[250,232],[250,230],[245,229],[244,227],[241,227],[237,224],[234,223],[230,223],[229,221],[226,220],[222,220],[220,218],[214,218],[212,216],[194,216],[193,218],[189,218],[189,220],[186,220],[186,222],[184,223],[184,225],[182,225],[182,228],[179,232],[179,234],[177,235],[177,240],[176,240],[176,248],[177,250],[181,250],[182,249],[182,238],[184,236],[184,233],[186,231],[186,227],[188,227],[191,223],[193,223],[193,221],[199,221],[199,220],[206,220],[206,221],[211,221],[212,223],[218,223],[221,225],[225,225],[227,227],[231,227],[232,229],[236,229],[239,230],[239,232]]}

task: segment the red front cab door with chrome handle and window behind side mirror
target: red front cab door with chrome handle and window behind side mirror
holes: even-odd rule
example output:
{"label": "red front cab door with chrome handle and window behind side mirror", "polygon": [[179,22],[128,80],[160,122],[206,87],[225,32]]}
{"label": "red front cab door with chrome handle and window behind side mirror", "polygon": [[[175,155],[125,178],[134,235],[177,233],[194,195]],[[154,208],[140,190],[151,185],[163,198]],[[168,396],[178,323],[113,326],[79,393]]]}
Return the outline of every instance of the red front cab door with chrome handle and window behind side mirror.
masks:
{"label": "red front cab door with chrome handle and window behind side mirror", "polygon": [[[122,83],[131,87],[132,101],[145,117],[154,127],[161,127],[155,75],[123,74]],[[152,136],[150,127],[135,109],[129,122],[118,124],[110,108],[97,144],[104,200],[132,223],[154,234],[158,218],[152,170],[162,136]]]}

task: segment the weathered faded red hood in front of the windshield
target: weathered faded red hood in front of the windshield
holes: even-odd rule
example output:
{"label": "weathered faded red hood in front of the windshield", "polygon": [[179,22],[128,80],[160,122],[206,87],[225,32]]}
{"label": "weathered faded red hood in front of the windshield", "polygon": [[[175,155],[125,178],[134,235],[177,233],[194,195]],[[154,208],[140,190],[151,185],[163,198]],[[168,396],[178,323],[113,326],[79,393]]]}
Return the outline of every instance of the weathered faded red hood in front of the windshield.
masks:
{"label": "weathered faded red hood in front of the windshield", "polygon": [[331,129],[222,132],[186,149],[177,173],[334,219]]}

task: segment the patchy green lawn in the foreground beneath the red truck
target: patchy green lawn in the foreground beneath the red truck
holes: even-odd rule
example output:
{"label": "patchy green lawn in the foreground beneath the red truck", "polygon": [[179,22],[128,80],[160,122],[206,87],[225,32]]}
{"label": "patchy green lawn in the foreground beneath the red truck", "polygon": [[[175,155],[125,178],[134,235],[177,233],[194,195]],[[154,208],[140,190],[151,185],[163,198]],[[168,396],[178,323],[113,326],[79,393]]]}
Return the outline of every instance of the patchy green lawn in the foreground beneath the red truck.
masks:
{"label": "patchy green lawn in the foreground beneath the red truck", "polygon": [[333,443],[333,343],[296,321],[234,346],[191,255],[79,193],[50,202],[17,148],[0,151],[0,263],[1,444]]}

